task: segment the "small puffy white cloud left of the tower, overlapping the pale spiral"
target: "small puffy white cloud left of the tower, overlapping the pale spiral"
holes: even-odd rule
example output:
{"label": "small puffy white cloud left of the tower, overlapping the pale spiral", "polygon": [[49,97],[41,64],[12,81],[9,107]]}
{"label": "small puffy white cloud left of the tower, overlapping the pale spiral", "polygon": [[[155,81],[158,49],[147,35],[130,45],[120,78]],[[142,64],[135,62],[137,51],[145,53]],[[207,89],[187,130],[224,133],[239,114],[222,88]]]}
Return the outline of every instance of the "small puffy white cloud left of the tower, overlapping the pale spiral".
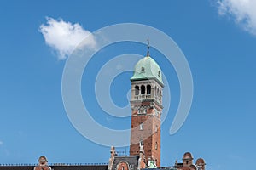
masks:
{"label": "small puffy white cloud left of the tower, overlapping the pale spiral", "polygon": [[[72,24],[62,19],[55,20],[49,17],[46,20],[47,23],[42,24],[39,31],[43,34],[45,43],[58,54],[58,59],[66,59],[84,37],[91,34],[90,31],[84,30],[78,23]],[[83,45],[89,49],[96,48],[95,38],[91,37],[88,43]]]}

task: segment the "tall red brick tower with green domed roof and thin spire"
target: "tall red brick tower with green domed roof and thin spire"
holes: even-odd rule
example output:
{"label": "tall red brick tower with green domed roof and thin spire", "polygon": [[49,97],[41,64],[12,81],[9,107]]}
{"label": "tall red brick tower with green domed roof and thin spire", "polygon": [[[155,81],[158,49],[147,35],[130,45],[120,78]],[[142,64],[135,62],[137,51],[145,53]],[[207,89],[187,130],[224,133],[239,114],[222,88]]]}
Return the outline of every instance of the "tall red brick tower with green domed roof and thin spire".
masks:
{"label": "tall red brick tower with green domed roof and thin spire", "polygon": [[[148,47],[149,49],[149,47]],[[160,167],[160,116],[162,105],[162,73],[149,56],[139,60],[131,77],[131,145],[130,156],[144,148],[146,162]]]}

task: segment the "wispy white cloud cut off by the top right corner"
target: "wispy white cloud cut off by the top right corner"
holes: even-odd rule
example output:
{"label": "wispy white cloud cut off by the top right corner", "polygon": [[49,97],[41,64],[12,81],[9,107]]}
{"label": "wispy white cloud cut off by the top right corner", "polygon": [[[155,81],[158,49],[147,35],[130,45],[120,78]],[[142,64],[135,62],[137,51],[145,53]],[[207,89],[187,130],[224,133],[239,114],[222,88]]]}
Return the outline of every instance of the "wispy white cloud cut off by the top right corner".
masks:
{"label": "wispy white cloud cut off by the top right corner", "polygon": [[236,24],[256,36],[255,0],[218,0],[218,14],[230,15]]}

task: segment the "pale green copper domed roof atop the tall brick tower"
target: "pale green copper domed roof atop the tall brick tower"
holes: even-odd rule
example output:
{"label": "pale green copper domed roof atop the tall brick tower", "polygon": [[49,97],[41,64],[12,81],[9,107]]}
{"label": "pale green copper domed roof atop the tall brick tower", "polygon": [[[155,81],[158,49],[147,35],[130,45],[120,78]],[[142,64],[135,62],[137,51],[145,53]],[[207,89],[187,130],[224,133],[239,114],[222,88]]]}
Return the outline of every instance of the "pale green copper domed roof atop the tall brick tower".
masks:
{"label": "pale green copper domed roof atop the tall brick tower", "polygon": [[137,62],[133,76],[131,77],[131,81],[145,79],[156,79],[164,84],[160,66],[150,56],[144,57]]}

